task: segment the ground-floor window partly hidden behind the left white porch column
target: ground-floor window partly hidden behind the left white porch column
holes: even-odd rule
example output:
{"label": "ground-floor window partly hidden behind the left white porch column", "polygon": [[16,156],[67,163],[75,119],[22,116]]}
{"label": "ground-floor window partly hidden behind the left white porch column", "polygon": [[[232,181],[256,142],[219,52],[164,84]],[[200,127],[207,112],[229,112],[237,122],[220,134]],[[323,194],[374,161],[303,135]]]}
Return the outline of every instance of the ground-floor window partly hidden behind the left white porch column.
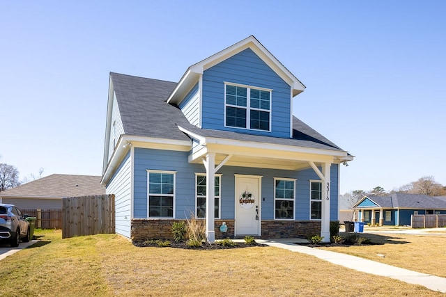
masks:
{"label": "ground-floor window partly hidden behind the left white porch column", "polygon": [[[214,182],[214,218],[220,218],[220,179],[222,175],[215,175]],[[197,203],[197,218],[206,218],[206,174],[195,175],[195,201]]]}

